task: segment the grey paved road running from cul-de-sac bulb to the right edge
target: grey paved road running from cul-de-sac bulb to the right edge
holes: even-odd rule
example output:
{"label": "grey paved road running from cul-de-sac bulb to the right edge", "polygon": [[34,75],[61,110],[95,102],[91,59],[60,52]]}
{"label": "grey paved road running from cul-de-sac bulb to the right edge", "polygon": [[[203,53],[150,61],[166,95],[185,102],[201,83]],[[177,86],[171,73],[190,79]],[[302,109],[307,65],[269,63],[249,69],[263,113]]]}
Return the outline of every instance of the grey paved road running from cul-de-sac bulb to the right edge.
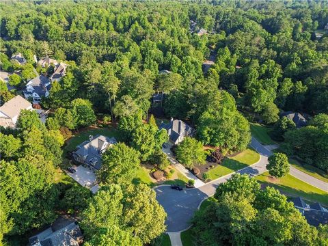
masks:
{"label": "grey paved road running from cul-de-sac bulb to the right edge", "polygon": [[[237,172],[240,174],[249,174],[249,176],[257,176],[267,171],[266,165],[268,163],[268,157],[272,152],[264,148],[264,146],[254,138],[251,139],[250,145],[260,153],[260,160],[258,163],[245,167]],[[313,178],[308,174],[304,174],[297,169],[295,171],[293,167],[290,168],[290,174],[325,191],[328,189],[328,184],[326,182]],[[167,232],[178,232],[187,229],[191,225],[190,220],[200,202],[202,202],[204,198],[213,195],[217,186],[226,182],[231,176],[232,174],[228,174],[227,176],[208,182],[202,187],[184,189],[183,191],[170,189],[169,186],[157,187],[155,189],[156,199],[167,213]]]}

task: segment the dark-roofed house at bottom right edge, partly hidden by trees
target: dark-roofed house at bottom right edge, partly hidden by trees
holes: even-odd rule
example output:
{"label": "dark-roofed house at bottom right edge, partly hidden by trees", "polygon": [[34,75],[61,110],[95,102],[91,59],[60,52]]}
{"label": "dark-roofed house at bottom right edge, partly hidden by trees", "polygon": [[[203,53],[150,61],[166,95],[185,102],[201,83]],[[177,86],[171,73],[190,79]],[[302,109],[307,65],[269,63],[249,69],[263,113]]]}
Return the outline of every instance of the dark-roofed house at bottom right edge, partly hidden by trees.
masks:
{"label": "dark-roofed house at bottom right edge, partly hidden by trees", "polygon": [[328,210],[320,203],[306,204],[302,197],[295,197],[292,202],[311,226],[328,224]]}

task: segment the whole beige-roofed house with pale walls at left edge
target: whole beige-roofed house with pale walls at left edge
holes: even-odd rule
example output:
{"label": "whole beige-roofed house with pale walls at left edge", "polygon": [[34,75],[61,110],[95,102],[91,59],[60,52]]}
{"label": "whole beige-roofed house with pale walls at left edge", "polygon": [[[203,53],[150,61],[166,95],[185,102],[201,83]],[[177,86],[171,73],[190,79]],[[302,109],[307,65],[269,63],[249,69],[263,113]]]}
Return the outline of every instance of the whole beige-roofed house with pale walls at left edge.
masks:
{"label": "whole beige-roofed house with pale walls at left edge", "polygon": [[31,110],[31,102],[25,100],[22,96],[15,96],[0,107],[0,126],[16,126],[20,110]]}

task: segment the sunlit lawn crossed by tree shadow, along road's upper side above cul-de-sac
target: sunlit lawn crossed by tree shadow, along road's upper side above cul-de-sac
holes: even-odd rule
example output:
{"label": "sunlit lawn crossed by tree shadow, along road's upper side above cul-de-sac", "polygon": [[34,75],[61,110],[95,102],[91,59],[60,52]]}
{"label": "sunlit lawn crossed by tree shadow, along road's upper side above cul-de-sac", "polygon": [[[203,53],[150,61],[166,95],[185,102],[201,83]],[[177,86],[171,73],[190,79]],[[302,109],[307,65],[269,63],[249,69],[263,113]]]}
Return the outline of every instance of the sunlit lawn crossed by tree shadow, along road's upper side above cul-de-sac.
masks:
{"label": "sunlit lawn crossed by tree shadow, along road's upper side above cul-de-sac", "polygon": [[234,157],[224,159],[221,165],[208,170],[210,180],[215,180],[227,174],[231,174],[232,172],[256,163],[259,159],[260,155],[248,148]]}

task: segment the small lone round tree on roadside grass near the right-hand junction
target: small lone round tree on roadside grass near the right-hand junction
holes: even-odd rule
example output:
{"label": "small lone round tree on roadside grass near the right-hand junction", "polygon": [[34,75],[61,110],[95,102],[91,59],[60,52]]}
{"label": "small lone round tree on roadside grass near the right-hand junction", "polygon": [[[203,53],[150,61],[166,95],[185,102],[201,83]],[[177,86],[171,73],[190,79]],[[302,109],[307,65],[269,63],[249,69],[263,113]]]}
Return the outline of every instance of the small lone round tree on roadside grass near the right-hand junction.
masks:
{"label": "small lone round tree on roadside grass near the right-hand junction", "polygon": [[269,174],[275,178],[282,178],[289,172],[288,157],[284,153],[274,153],[269,156],[267,169]]}

